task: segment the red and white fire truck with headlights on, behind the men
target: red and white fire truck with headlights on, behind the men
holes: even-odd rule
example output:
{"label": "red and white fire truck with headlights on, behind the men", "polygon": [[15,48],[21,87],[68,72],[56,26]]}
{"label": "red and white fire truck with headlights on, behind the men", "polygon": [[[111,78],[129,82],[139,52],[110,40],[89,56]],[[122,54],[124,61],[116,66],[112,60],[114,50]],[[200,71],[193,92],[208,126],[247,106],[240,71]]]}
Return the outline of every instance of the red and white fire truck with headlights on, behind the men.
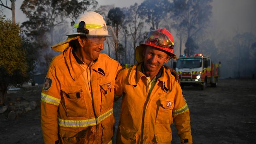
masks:
{"label": "red and white fire truck with headlights on, behind the men", "polygon": [[180,56],[173,63],[180,77],[180,84],[183,88],[185,85],[200,85],[204,90],[208,84],[216,87],[219,81],[218,63],[213,63],[210,57],[202,54],[195,54],[192,57],[186,55]]}

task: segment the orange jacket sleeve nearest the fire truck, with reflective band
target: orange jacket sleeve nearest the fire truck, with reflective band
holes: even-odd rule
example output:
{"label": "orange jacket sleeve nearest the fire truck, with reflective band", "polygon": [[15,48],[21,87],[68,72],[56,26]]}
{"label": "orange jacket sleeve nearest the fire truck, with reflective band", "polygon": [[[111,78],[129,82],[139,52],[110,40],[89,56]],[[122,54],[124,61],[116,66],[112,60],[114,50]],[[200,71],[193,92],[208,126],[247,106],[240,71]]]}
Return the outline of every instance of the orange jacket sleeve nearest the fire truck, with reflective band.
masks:
{"label": "orange jacket sleeve nearest the fire truck, with reflective band", "polygon": [[176,95],[174,98],[173,120],[178,130],[180,142],[183,144],[192,144],[191,126],[189,109],[186,100],[182,94],[182,89],[178,82],[174,82]]}

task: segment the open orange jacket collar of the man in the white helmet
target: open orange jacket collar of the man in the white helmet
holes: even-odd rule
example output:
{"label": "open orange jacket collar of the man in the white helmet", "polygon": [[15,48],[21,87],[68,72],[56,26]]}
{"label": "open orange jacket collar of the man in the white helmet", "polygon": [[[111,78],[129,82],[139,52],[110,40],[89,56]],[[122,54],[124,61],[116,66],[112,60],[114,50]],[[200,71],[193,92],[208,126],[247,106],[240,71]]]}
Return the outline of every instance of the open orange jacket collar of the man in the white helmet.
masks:
{"label": "open orange jacket collar of the man in the white helmet", "polygon": [[[80,74],[82,74],[84,72],[83,68],[80,66],[81,64],[83,64],[83,62],[78,59],[78,57],[73,54],[72,52],[72,47],[67,48],[64,52],[64,58],[65,58],[65,62],[67,64],[67,67],[69,69],[69,74],[72,77],[73,80],[76,80],[79,78]],[[106,74],[106,67],[100,65],[99,59],[101,57],[98,57],[98,59],[95,59],[93,61],[93,65],[92,65],[92,69],[95,70],[96,72],[99,72],[100,74],[102,74],[105,77]]]}

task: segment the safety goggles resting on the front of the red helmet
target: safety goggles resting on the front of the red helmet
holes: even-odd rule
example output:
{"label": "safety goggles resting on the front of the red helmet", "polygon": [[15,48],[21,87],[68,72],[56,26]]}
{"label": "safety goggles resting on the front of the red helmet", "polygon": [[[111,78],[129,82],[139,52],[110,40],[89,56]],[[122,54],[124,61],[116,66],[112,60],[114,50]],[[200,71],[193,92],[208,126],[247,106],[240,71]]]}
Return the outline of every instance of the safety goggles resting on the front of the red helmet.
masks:
{"label": "safety goggles resting on the front of the red helmet", "polygon": [[167,35],[160,33],[159,31],[148,31],[146,35],[149,41],[157,41],[156,44],[163,47],[173,48],[174,42],[172,42]]}

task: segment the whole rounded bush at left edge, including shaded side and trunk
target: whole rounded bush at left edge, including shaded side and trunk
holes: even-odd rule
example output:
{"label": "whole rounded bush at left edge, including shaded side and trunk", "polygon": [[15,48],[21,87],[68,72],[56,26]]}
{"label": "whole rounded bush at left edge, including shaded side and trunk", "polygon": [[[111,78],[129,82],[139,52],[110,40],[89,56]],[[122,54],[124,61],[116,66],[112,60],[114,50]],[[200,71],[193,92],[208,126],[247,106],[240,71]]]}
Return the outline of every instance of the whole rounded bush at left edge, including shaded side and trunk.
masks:
{"label": "whole rounded bush at left edge, including shaded side and trunk", "polygon": [[35,60],[36,49],[23,35],[19,24],[5,20],[0,12],[0,106],[6,101],[7,87],[28,81]]}

